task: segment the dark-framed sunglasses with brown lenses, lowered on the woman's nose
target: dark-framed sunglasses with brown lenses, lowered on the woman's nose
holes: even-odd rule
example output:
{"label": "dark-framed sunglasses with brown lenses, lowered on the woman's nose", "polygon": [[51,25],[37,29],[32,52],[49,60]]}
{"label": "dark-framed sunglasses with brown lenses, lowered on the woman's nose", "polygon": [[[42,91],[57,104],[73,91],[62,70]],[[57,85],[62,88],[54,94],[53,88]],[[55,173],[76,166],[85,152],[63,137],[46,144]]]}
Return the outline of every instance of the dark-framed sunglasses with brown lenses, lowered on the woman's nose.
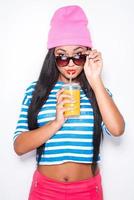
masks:
{"label": "dark-framed sunglasses with brown lenses, lowered on the woman's nose", "polygon": [[67,57],[66,55],[61,55],[61,56],[56,56],[55,61],[59,67],[67,66],[70,60],[72,60],[75,65],[84,66],[86,62],[86,56],[87,55],[85,54],[80,54],[80,55],[77,54],[73,57]]}

